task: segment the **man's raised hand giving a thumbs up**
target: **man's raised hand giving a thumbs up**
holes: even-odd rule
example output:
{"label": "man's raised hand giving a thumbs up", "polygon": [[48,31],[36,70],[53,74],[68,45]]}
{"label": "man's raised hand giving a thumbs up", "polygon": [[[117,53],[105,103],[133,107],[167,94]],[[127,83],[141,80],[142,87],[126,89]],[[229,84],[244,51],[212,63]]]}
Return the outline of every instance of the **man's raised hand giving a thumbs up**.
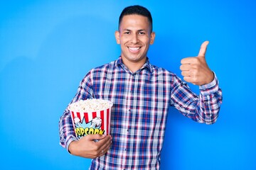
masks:
{"label": "man's raised hand giving a thumbs up", "polygon": [[181,75],[185,81],[199,86],[213,81],[213,72],[206,63],[208,43],[208,41],[202,43],[197,57],[188,57],[181,60]]}

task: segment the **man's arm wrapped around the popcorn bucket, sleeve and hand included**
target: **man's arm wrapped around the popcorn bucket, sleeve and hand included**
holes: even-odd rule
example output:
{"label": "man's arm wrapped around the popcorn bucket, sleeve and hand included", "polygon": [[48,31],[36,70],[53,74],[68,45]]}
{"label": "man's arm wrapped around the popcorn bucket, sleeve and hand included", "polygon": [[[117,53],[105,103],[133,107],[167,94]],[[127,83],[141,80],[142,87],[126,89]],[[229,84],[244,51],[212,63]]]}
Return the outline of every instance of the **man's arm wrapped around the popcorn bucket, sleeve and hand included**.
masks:
{"label": "man's arm wrapped around the popcorn bucket, sleeve and hand included", "polygon": [[[73,98],[73,103],[79,100],[85,100],[87,98],[92,98],[93,91],[90,88],[91,85],[90,74],[82,79],[78,92]],[[75,131],[73,128],[73,123],[68,111],[68,107],[65,109],[63,115],[60,117],[59,121],[59,131],[60,131],[60,145],[65,147],[70,154],[74,154],[79,157],[95,158],[100,157],[105,154],[110,148],[112,137],[110,135],[87,135],[77,140],[75,137]],[[95,142],[95,140],[100,140]]]}

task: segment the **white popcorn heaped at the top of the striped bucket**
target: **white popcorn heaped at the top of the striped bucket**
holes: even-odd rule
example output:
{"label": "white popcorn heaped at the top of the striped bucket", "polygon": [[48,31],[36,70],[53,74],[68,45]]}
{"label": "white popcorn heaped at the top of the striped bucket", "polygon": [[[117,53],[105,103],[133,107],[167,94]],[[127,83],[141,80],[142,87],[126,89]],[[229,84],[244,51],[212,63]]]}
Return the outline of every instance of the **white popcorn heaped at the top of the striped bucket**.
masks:
{"label": "white popcorn heaped at the top of the striped bucket", "polygon": [[102,111],[110,107],[112,107],[112,103],[110,101],[89,98],[85,101],[81,100],[75,103],[71,103],[70,106],[68,106],[68,110],[84,113],[92,111]]}

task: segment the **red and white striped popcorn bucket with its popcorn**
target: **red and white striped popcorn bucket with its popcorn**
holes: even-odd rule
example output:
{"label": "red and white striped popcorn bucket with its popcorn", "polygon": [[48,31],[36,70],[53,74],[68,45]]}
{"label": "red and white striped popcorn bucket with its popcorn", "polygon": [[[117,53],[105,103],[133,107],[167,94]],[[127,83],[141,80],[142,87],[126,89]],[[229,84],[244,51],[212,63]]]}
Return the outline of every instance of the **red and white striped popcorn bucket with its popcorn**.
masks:
{"label": "red and white striped popcorn bucket with its popcorn", "polygon": [[85,135],[109,135],[113,103],[102,99],[87,99],[70,104],[75,135],[78,140]]}

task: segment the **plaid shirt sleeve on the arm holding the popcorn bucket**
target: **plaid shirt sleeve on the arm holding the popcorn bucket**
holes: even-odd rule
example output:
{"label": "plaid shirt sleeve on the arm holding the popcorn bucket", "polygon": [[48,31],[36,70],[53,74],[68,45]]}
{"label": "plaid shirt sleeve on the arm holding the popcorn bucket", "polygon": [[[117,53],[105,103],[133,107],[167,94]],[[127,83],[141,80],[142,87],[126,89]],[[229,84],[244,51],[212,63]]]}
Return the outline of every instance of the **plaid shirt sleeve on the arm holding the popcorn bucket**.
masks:
{"label": "plaid shirt sleeve on the arm holding the popcorn bucket", "polygon": [[[87,98],[92,98],[93,92],[90,81],[90,74],[87,74],[84,79],[80,82],[80,86],[78,87],[77,94],[73,100],[68,104],[74,103],[75,101],[86,100]],[[75,137],[75,130],[73,128],[73,123],[70,115],[70,111],[68,111],[68,107],[65,108],[63,115],[59,120],[59,133],[60,133],[60,145],[65,147],[68,150],[68,147],[71,142],[77,140]]]}

